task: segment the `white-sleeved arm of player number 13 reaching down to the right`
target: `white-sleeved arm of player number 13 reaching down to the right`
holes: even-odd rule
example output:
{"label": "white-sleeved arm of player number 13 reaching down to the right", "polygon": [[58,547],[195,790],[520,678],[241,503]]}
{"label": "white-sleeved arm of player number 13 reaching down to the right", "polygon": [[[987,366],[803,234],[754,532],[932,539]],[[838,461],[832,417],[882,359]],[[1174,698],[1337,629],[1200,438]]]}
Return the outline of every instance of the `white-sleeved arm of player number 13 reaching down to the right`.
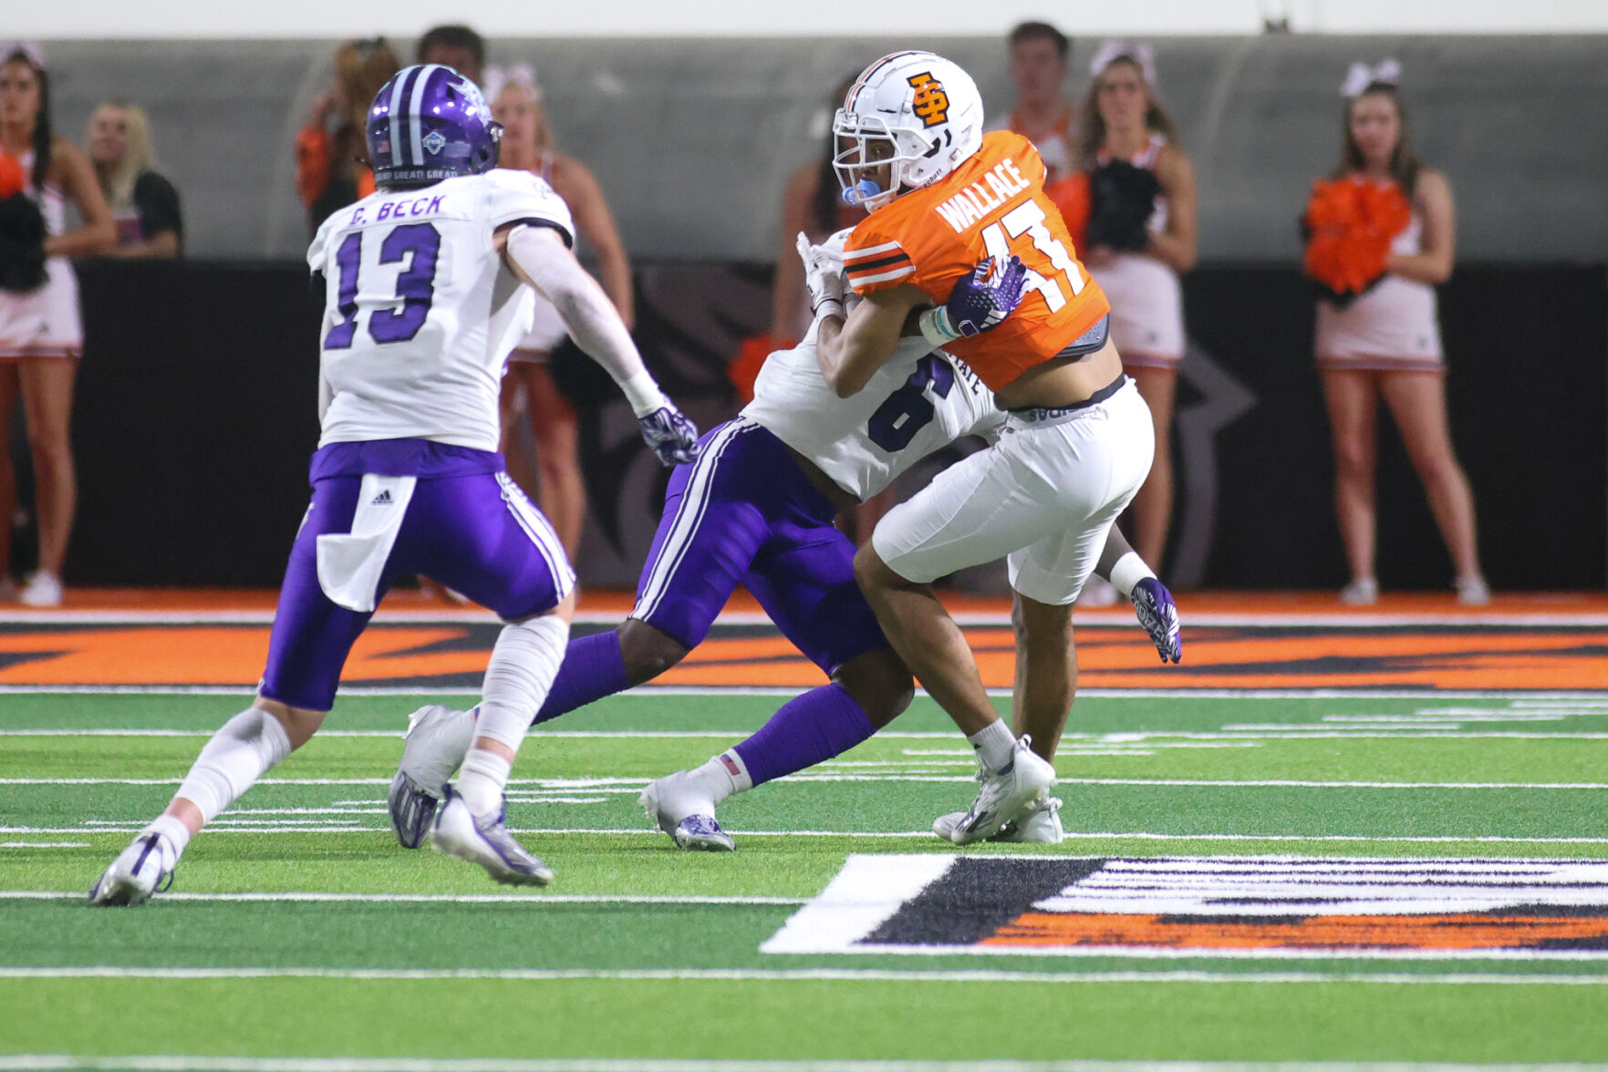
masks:
{"label": "white-sleeved arm of player number 13 reaching down to the right", "polygon": [[544,238],[537,227],[527,223],[508,233],[508,259],[553,304],[576,346],[621,386],[637,416],[666,405],[608,294],[574,254]]}

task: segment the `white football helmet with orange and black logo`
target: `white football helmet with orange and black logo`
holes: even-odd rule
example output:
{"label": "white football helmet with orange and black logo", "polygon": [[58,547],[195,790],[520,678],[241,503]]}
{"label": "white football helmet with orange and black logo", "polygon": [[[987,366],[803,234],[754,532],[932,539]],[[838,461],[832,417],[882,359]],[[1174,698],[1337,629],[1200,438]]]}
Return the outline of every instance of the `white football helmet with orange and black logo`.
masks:
{"label": "white football helmet with orange and black logo", "polygon": [[854,80],[831,129],[841,146],[833,169],[843,199],[875,212],[982,148],[982,96],[949,59],[896,51]]}

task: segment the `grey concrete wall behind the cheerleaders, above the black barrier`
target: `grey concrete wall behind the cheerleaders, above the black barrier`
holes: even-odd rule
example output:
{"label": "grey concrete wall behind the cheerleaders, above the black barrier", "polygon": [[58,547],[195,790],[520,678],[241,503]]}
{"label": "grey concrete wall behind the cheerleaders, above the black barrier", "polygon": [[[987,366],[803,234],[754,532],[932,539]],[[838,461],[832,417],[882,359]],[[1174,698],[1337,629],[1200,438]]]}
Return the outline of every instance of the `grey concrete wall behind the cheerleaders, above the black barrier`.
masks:
{"label": "grey concrete wall behind the cheerleaders, above the black barrier", "polygon": [[[400,42],[410,45],[412,42]],[[1079,42],[1068,92],[1092,50]],[[1460,256],[1608,256],[1608,35],[1158,39],[1161,92],[1201,182],[1201,256],[1298,256],[1296,215],[1339,143],[1352,59],[1397,56],[1421,154],[1458,201]],[[926,47],[1010,104],[997,39],[505,40],[531,61],[561,148],[597,174],[638,257],[770,260],[786,177],[820,145],[825,96],[878,55]],[[129,96],[153,121],[198,257],[299,257],[291,141],[333,42],[45,42],[56,124]]]}

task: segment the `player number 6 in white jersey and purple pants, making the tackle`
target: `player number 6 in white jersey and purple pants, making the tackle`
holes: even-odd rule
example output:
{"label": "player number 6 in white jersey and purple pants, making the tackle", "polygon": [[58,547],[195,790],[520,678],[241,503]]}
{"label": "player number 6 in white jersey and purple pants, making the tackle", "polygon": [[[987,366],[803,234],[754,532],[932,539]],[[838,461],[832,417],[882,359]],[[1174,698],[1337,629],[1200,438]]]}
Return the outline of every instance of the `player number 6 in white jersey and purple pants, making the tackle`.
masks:
{"label": "player number 6 in white jersey and purple pants, making the tackle", "polygon": [[[806,260],[817,272],[820,259],[812,252]],[[841,262],[833,270],[841,272]],[[987,283],[981,272],[963,280],[949,304],[954,320],[986,329],[1019,297],[1019,275],[1005,273]],[[745,585],[830,683],[794,698],[754,736],[703,767],[661,778],[642,794],[648,818],[677,845],[732,849],[716,821],[720,800],[849,751],[912,698],[910,672],[860,595],[854,545],[833,518],[955,439],[997,436],[1003,421],[982,381],[921,336],[900,341],[867,389],[846,400],[822,378],[814,328],[798,349],[772,354],[754,383],[754,402],[709,432],[698,461],[671,477],[630,617],[616,630],[569,641],[537,722],[671,669],[703,641],[736,585]],[[1130,548],[1114,535],[1101,559],[1105,572],[1124,553]],[[1164,657],[1175,657],[1171,596],[1148,569],[1130,572],[1142,624]],[[1142,577],[1150,577],[1148,587],[1135,590]],[[1159,612],[1151,598],[1161,599]],[[415,712],[389,797],[404,845],[423,839],[439,786],[473,734],[473,712],[439,704]],[[1005,837],[1060,841],[1056,804],[1047,800]]]}

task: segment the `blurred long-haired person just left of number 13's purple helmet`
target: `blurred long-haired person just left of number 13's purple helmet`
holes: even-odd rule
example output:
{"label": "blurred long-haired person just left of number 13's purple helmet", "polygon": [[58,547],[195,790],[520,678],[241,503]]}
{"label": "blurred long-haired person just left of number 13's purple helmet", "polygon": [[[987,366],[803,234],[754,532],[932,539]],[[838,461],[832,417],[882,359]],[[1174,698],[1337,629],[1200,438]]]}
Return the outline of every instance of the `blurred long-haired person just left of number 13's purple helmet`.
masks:
{"label": "blurred long-haired person just left of number 13's purple helmet", "polygon": [[375,191],[363,135],[368,106],[400,64],[384,37],[354,40],[334,51],[334,76],[296,135],[296,194],[307,206],[307,231],[336,209]]}

